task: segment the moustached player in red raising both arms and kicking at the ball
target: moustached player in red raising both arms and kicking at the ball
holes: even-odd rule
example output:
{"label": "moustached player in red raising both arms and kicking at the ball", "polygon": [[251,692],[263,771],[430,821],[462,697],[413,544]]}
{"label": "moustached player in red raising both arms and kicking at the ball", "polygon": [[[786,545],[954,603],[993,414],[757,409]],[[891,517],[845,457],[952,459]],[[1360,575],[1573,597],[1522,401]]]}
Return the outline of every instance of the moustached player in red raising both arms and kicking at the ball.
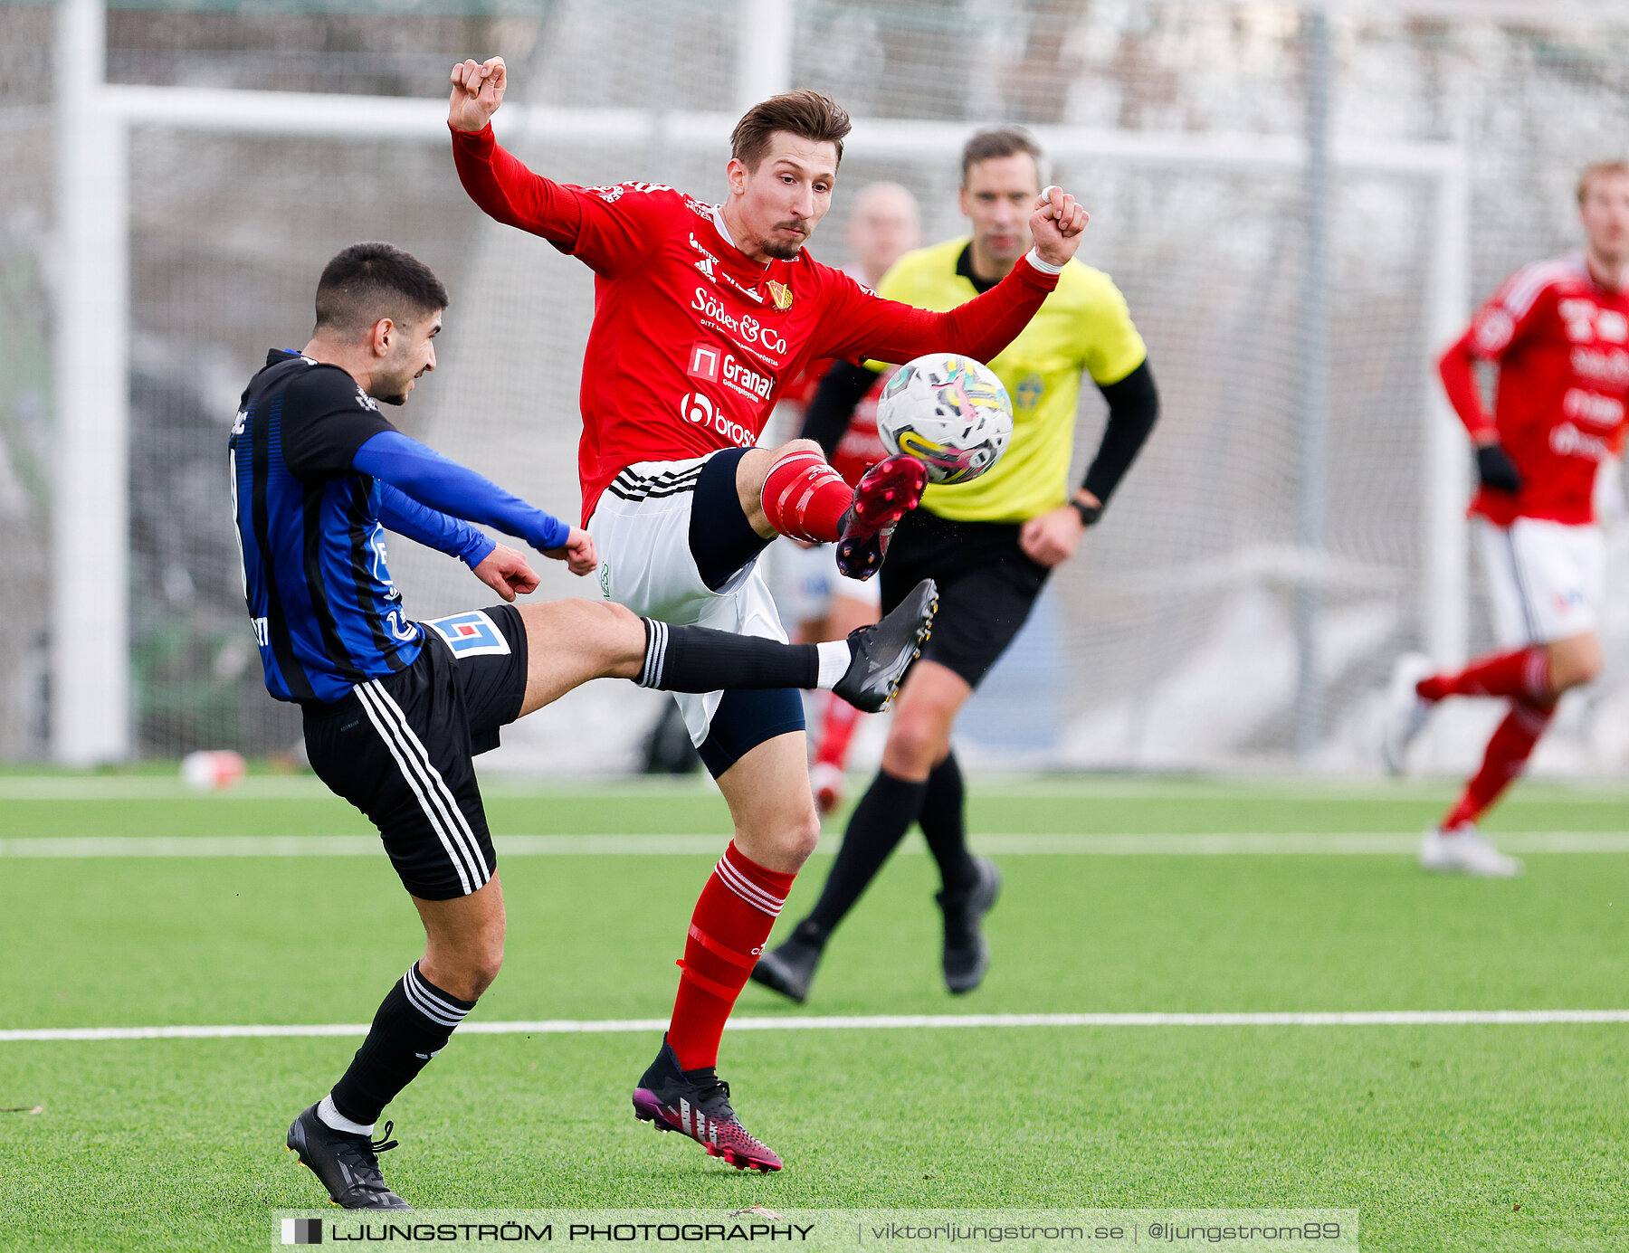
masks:
{"label": "moustached player in red raising both arms and kicking at the ball", "polygon": [[[803,251],[849,132],[826,96],[792,91],[749,109],[731,135],[725,202],[710,205],[660,184],[572,187],[534,174],[492,137],[505,85],[500,57],[453,68],[453,156],[476,204],[595,270],[580,476],[601,591],[650,618],[785,639],[757,554],[777,534],[836,541],[845,574],[875,572],[925,476],[891,458],[850,489],[813,442],[756,448],[782,388],[821,357],[987,360],[1056,285],[1085,210],[1049,187],[1028,259],[977,300],[929,313]],[[930,614],[930,582],[912,595]],[[736,1167],[779,1170],[715,1066],[723,1023],[819,838],[801,697],[712,692],[681,706],[735,839],[696,904],[673,1018],[634,1110]]]}

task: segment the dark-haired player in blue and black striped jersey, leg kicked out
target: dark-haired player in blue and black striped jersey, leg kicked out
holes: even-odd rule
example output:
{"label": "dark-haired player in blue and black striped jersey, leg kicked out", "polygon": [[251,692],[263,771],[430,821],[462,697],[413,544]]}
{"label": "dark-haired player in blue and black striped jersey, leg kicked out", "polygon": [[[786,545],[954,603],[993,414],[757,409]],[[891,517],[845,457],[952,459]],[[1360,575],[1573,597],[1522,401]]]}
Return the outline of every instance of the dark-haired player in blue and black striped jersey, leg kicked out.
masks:
{"label": "dark-haired player in blue and black striped jersey, leg kicked out", "polygon": [[[243,591],[266,688],[305,714],[311,767],[378,826],[425,927],[425,955],[391,987],[344,1077],[288,1129],[288,1147],[350,1209],[406,1209],[380,1173],[384,1106],[497,978],[503,893],[472,758],[498,728],[591,678],[705,692],[831,688],[880,709],[915,657],[935,591],[849,640],[777,640],[668,626],[609,601],[513,605],[538,575],[472,523],[525,539],[575,574],[593,539],[402,435],[402,404],[435,368],[446,290],[380,243],[336,256],[316,331],[274,350],[231,429]],[[461,559],[503,605],[430,622],[407,616],[384,531]]]}

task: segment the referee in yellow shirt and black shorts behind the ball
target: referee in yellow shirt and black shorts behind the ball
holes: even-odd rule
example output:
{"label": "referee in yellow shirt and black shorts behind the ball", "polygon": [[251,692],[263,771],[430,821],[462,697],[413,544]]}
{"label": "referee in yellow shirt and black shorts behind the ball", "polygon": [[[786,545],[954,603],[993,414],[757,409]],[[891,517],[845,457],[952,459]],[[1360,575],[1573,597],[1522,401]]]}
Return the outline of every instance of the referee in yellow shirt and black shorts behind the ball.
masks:
{"label": "referee in yellow shirt and black shorts behind the ball", "polygon": [[[971,238],[902,256],[878,293],[951,310],[994,287],[1030,251],[1028,217],[1041,194],[1041,148],[1018,127],[981,130],[961,153],[961,212]],[[1000,872],[966,846],[961,769],[950,748],[956,712],[1030,616],[1052,567],[1069,561],[1103,513],[1153,429],[1160,399],[1126,298],[1101,270],[1070,261],[1039,313],[989,362],[1013,401],[1007,455],[968,484],[933,484],[894,531],[881,569],[883,609],[920,578],[938,580],[938,616],[894,702],[883,767],[849,818],[842,851],[814,909],[792,939],[764,953],[753,979],[808,997],[826,940],[881,870],[911,823],[938,862],[945,983],[971,992],[989,966],[981,932]],[[803,424],[828,456],[876,370],[839,363]],[[1082,375],[1109,404],[1085,482],[1070,495]]]}

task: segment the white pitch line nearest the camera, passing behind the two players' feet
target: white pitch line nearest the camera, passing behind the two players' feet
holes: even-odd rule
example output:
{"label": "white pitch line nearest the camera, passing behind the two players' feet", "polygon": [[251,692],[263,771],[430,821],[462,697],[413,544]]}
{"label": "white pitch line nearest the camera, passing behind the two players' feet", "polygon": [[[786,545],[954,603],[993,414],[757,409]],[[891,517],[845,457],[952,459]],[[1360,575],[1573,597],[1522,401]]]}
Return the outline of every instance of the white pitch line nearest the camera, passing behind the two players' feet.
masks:
{"label": "white pitch line nearest the camera, passing behind the two players' feet", "polygon": [[[1021,1027],[1543,1027],[1629,1023],[1629,1009],[1355,1010],[1308,1013],[881,1013],[873,1017],[731,1018],[731,1031],[917,1031]],[[466,1022],[459,1035],[617,1035],[666,1030],[666,1018]],[[62,1040],[239,1040],[360,1036],[367,1023],[241,1027],[49,1027],[0,1031],[0,1043]]]}

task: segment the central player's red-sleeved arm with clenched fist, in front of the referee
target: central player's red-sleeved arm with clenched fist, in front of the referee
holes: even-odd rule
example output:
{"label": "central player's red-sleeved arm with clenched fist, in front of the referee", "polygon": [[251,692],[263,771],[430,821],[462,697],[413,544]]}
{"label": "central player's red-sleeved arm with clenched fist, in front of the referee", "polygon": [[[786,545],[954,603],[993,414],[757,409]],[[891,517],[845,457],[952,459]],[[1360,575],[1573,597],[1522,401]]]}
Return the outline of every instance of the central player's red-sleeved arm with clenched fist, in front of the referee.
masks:
{"label": "central player's red-sleeved arm with clenched fist, in front of the referee", "polygon": [[823,355],[909,362],[925,352],[959,352],[989,362],[1013,342],[1057,287],[1087,222],[1087,210],[1074,196],[1047,187],[1030,217],[1034,248],[995,287],[948,313],[883,300],[847,279],[844,298],[828,311],[832,339],[823,345]]}

